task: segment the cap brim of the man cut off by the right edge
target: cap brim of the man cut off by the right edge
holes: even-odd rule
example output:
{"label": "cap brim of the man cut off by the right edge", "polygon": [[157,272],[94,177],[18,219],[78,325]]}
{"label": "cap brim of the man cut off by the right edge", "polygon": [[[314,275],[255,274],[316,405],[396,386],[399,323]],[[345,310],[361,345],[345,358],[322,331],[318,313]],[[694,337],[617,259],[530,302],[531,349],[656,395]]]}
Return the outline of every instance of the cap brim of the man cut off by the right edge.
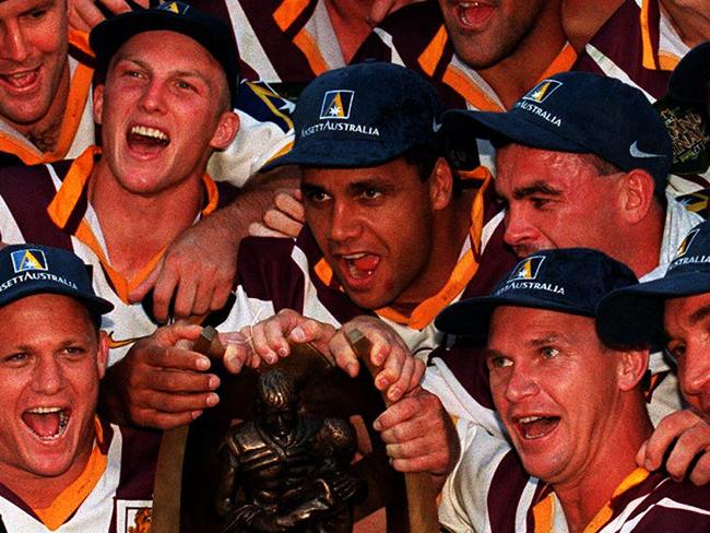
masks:
{"label": "cap brim of the man cut off by the right edge", "polygon": [[613,291],[600,301],[596,331],[610,345],[663,347],[665,300],[710,292],[710,275],[688,272]]}

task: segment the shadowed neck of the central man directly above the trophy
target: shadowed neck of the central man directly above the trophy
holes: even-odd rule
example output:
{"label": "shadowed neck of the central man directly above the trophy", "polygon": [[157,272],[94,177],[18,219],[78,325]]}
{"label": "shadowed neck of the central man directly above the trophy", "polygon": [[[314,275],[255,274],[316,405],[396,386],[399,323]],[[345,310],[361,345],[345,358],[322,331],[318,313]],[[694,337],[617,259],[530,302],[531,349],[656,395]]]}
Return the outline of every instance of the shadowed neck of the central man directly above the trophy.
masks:
{"label": "shadowed neck of the central man directly above the trophy", "polygon": [[451,204],[434,214],[431,249],[424,275],[416,287],[403,293],[390,307],[402,315],[411,315],[422,301],[437,294],[451,277],[459,262],[463,244],[471,232],[471,209],[475,191],[453,198]]}

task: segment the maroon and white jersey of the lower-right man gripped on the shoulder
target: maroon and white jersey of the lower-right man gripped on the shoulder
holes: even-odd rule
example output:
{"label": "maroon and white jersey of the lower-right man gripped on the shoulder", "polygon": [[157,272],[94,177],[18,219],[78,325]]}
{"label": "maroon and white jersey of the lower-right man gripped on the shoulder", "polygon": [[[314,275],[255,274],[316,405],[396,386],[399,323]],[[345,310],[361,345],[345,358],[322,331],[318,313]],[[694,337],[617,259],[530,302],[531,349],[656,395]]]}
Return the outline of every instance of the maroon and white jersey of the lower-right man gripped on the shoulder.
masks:
{"label": "maroon and white jersey of the lower-right man gripped on the shoulder", "polygon": [[[567,533],[549,485],[525,473],[510,445],[480,426],[459,425],[463,453],[443,486],[439,521],[452,532]],[[710,486],[676,483],[665,473],[631,472],[584,531],[710,531]]]}

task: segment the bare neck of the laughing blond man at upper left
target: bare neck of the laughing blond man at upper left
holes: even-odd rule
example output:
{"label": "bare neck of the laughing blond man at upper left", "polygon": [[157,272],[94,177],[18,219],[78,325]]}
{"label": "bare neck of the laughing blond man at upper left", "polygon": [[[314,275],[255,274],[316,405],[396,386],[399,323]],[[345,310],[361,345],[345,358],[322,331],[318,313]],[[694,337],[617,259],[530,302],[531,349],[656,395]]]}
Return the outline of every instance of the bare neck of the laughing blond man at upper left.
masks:
{"label": "bare neck of the laughing blond man at upper left", "polygon": [[88,182],[88,201],[100,223],[111,266],[126,280],[133,279],[192,225],[202,200],[201,175],[144,196],[125,189],[104,157]]}

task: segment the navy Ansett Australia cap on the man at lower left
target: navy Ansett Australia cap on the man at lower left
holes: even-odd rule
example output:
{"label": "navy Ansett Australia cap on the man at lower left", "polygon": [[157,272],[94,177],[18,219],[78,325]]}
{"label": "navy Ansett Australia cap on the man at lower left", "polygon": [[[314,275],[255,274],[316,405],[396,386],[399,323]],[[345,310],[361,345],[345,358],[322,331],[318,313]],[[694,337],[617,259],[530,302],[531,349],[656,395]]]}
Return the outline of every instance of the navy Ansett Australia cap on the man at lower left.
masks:
{"label": "navy Ansett Australia cap on the man at lower left", "polygon": [[94,293],[88,266],[74,253],[49,246],[10,245],[0,250],[0,307],[39,293],[76,298],[96,316],[114,305]]}

